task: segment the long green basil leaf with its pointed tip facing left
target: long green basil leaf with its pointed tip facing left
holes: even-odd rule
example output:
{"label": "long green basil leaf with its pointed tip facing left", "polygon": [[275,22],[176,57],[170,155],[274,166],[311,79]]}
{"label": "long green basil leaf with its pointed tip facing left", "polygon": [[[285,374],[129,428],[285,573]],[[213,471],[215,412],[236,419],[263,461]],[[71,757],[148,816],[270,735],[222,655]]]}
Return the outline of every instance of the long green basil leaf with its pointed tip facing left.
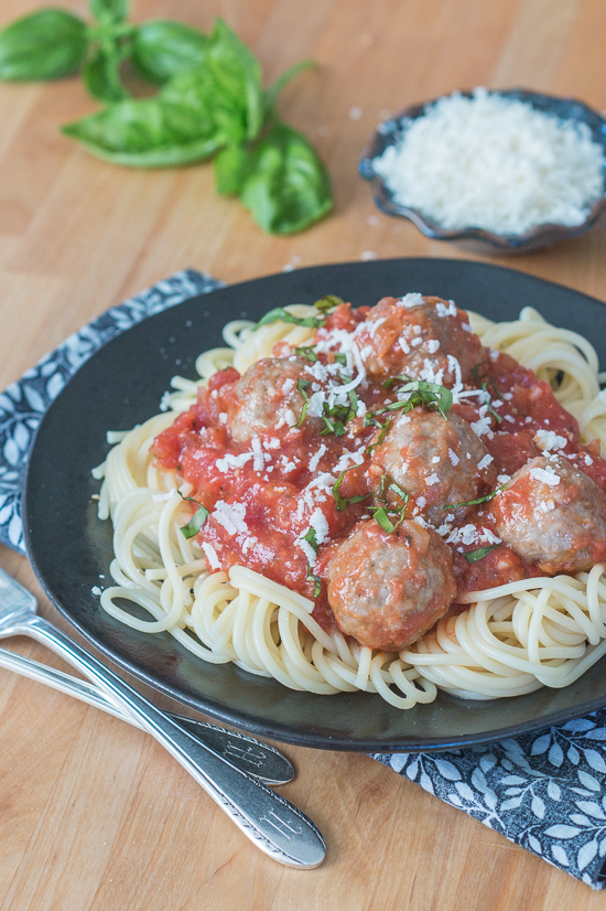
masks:
{"label": "long green basil leaf with its pointed tip facing left", "polygon": [[128,99],[63,127],[98,158],[131,168],[171,168],[208,158],[225,144],[202,105]]}

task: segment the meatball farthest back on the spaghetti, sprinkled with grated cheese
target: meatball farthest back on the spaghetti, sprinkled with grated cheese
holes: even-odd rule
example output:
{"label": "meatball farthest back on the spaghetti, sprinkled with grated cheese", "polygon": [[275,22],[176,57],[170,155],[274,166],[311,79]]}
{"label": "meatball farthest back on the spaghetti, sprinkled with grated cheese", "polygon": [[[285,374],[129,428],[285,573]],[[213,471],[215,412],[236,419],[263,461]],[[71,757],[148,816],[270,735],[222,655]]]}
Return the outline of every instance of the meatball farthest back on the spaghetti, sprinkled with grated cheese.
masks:
{"label": "meatball farthest back on the spaghetti, sprinkled with grated cheese", "polygon": [[[467,326],[465,329],[465,326]],[[410,376],[448,388],[467,383],[484,360],[467,313],[441,298],[383,298],[356,331],[368,376]]]}

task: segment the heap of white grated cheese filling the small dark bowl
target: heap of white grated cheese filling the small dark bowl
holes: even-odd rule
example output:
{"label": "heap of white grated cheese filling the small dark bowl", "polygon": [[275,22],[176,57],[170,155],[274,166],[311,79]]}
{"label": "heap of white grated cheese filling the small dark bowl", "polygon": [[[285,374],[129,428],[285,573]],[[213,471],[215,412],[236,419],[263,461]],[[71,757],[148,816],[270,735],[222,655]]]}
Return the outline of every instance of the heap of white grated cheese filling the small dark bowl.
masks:
{"label": "heap of white grated cheese filling the small dark bowl", "polygon": [[578,225],[604,192],[604,154],[586,124],[485,88],[440,98],[372,168],[397,203],[442,227],[501,235]]}

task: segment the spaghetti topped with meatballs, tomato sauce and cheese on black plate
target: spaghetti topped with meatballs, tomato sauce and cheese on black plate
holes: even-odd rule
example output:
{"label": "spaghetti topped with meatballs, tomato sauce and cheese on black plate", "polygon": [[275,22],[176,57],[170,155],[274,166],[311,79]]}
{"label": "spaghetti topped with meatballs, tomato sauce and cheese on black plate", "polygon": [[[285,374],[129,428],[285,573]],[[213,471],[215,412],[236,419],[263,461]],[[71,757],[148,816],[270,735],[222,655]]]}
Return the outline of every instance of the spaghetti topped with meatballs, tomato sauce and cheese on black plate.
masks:
{"label": "spaghetti topped with meatballs, tomato sauce and cheese on black plate", "polygon": [[606,399],[585,339],[419,293],[224,335],[96,472],[112,617],[399,708],[564,686],[606,652]]}

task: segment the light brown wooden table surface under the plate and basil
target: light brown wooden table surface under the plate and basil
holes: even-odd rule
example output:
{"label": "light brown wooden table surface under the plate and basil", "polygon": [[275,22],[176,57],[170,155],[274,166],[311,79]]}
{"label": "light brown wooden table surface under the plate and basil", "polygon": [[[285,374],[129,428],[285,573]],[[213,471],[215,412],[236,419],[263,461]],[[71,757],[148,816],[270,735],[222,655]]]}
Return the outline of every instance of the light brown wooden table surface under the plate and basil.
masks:
{"label": "light brown wooden table surface under the plate and basil", "polygon": [[[85,12],[84,0],[59,2]],[[0,24],[36,7],[3,0]],[[215,195],[209,165],[127,170],[62,137],[61,124],[95,109],[78,79],[1,84],[0,387],[90,318],[183,267],[235,282],[289,264],[467,256],[376,212],[356,162],[386,111],[475,85],[606,108],[604,0],[133,2],[137,20],[180,18],[204,30],[216,14],[252,47],[268,81],[303,57],[318,62],[284,93],[282,110],[321,150],[334,214],[300,236],[268,237],[238,202]],[[603,224],[507,265],[606,300],[605,249]],[[0,549],[0,564],[58,620],[23,557]],[[61,664],[25,640],[11,647]],[[606,907],[602,893],[364,755],[285,752],[297,775],[283,793],[328,845],[314,871],[261,855],[151,738],[0,671],[0,907]]]}

